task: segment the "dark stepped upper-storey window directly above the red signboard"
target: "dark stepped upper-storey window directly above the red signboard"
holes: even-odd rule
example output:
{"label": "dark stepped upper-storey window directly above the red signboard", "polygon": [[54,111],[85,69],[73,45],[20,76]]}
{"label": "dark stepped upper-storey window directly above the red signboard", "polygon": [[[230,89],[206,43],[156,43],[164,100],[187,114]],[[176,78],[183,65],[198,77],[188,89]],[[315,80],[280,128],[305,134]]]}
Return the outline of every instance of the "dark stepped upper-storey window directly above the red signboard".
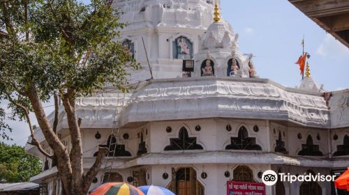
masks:
{"label": "dark stepped upper-storey window directly above the red signboard", "polygon": [[254,137],[248,137],[246,127],[242,126],[237,137],[230,138],[230,145],[225,150],[262,150],[262,147],[255,143]]}

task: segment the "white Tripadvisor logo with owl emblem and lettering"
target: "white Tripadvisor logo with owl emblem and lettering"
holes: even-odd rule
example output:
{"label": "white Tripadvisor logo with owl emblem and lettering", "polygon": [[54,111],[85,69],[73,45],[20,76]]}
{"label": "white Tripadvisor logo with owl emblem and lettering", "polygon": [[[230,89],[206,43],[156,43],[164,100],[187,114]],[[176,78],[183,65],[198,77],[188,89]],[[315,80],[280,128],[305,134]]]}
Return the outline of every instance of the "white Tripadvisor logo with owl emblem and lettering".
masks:
{"label": "white Tripadvisor logo with owl emblem and lettering", "polygon": [[267,170],[262,174],[262,182],[265,185],[275,185],[278,179],[281,182],[334,182],[334,178],[336,176],[331,176],[331,175],[321,175],[320,173],[318,174],[311,174],[308,173],[306,175],[291,175],[290,173],[275,173],[275,171],[272,170]]}

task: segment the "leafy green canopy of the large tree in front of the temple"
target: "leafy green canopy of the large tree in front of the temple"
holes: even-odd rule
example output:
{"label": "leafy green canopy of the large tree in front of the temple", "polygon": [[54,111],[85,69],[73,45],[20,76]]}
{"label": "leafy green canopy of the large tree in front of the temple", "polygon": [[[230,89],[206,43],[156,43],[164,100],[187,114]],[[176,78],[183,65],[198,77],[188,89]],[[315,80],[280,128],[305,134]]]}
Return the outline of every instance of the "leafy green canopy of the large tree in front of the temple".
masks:
{"label": "leafy green canopy of the large tree in front of the temple", "polygon": [[26,94],[31,86],[43,101],[54,90],[63,98],[73,89],[76,98],[106,83],[124,89],[126,70],[140,65],[116,41],[124,27],[119,17],[104,0],[88,5],[74,0],[1,1],[0,31],[11,36],[0,35],[0,102],[7,99],[6,92],[30,110]]}

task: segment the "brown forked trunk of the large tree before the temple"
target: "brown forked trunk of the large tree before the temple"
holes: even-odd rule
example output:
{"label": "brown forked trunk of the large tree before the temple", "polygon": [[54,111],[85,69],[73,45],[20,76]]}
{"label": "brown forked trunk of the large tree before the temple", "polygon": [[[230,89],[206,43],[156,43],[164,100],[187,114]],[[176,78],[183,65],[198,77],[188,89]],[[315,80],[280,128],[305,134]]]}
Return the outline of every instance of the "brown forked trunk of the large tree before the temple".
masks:
{"label": "brown forked trunk of the large tree before the temple", "polygon": [[[87,174],[84,175],[80,125],[75,112],[75,99],[72,98],[74,97],[74,92],[68,90],[68,93],[66,93],[63,98],[72,143],[70,153],[66,146],[61,143],[55,130],[52,129],[35,86],[31,86],[27,93],[40,129],[50,148],[52,148],[54,157],[56,157],[57,169],[63,185],[63,194],[86,195],[93,178],[96,177],[96,174],[101,168],[103,157],[105,157],[108,151],[107,148],[99,148],[94,165],[91,166]],[[57,124],[55,124],[55,126],[57,126]]]}

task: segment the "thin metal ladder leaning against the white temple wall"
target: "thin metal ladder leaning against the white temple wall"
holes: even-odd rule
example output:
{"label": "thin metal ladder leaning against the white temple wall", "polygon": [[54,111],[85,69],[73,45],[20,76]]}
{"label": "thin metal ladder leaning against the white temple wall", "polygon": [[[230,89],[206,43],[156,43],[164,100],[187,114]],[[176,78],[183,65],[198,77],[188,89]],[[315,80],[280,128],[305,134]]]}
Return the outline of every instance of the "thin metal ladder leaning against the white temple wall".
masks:
{"label": "thin metal ladder leaning against the white temple wall", "polygon": [[[114,157],[115,153],[117,150],[117,143],[119,142],[119,131],[120,131],[120,126],[121,126],[121,114],[124,109],[125,105],[125,96],[126,92],[123,93],[122,99],[121,99],[121,94],[117,94],[117,107],[115,108],[115,118],[113,121],[113,127],[112,127],[112,133],[110,134],[110,140],[107,140],[107,146],[108,146],[108,153],[107,153],[107,158],[105,160],[105,166],[103,169],[107,169],[105,173],[103,173],[103,177],[101,180],[101,184],[103,182],[110,182],[110,175],[112,173],[112,166],[114,163]],[[119,104],[119,101],[122,101],[121,104]],[[117,125],[117,127],[115,127]],[[107,177],[105,179],[105,177]]]}

